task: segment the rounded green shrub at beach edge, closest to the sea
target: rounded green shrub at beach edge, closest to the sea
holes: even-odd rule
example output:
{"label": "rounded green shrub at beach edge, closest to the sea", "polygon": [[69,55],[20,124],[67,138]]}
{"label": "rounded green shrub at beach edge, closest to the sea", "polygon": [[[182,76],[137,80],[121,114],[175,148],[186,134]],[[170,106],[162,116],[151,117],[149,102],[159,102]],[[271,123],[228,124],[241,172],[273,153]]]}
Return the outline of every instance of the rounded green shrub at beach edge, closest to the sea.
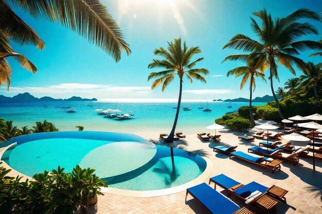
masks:
{"label": "rounded green shrub at beach edge, closest to the sea", "polygon": [[216,119],[215,122],[218,124],[226,125],[228,128],[236,131],[244,131],[251,127],[251,122],[247,119],[242,118],[237,113],[225,114],[222,118]]}

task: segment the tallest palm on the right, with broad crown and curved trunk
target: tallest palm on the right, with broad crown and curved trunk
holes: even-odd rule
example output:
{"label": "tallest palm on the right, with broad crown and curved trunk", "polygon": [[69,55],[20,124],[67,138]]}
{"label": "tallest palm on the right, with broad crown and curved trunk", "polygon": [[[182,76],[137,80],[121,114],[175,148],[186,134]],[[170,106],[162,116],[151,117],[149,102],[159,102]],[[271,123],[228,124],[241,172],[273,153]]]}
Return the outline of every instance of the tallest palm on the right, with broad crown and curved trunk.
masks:
{"label": "tallest palm on the right, with broad crown and curved trunk", "polygon": [[[318,42],[299,40],[300,37],[308,34],[317,34],[317,29],[310,23],[297,22],[299,19],[310,19],[320,21],[320,16],[308,9],[299,9],[284,18],[272,18],[267,14],[266,9],[253,13],[261,20],[261,26],[251,17],[252,29],[259,37],[259,42],[252,38],[237,34],[223,47],[235,48],[237,50],[251,51],[251,55],[264,55],[270,65],[271,90],[276,102],[279,114],[284,119],[279,102],[276,98],[273,88],[273,77],[278,80],[277,64],[288,68],[295,75],[293,64],[303,69],[305,63],[296,57],[298,51],[322,50],[322,45]],[[235,54],[229,56],[231,60],[240,60],[244,54]]]}

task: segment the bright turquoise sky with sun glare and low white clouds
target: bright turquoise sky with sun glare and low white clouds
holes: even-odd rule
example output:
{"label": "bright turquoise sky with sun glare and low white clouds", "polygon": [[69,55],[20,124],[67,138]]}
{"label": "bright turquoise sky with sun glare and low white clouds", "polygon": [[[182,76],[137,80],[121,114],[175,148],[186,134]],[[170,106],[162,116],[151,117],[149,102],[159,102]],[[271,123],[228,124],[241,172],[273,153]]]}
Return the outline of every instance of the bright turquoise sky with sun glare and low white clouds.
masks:
{"label": "bright turquoise sky with sun glare and low white clouds", "polygon": [[[164,92],[161,87],[151,90],[152,81],[147,81],[148,69],[158,47],[167,47],[167,41],[181,37],[187,45],[199,46],[202,52],[195,56],[204,57],[196,68],[206,68],[210,74],[207,83],[184,80],[183,99],[233,99],[249,97],[248,86],[240,90],[239,79],[226,76],[228,70],[242,66],[241,62],[222,63],[225,56],[241,51],[222,47],[237,33],[257,40],[252,32],[253,12],[266,8],[274,17],[284,17],[297,9],[308,8],[321,12],[322,1],[315,0],[101,0],[119,24],[132,53],[122,53],[116,63],[95,45],[73,31],[58,24],[35,20],[20,8],[13,10],[30,25],[45,42],[40,51],[34,46],[19,46],[11,43],[16,52],[22,53],[38,68],[33,75],[20,67],[13,59],[12,84],[7,91],[0,88],[0,94],[12,96],[29,92],[36,97],[52,96],[69,98],[77,95],[98,99],[175,99],[178,96],[177,78]],[[258,21],[258,20],[257,20]],[[311,21],[310,21],[311,22]],[[322,23],[311,22],[319,29],[318,35],[305,36],[305,40],[318,41],[321,38]],[[314,52],[314,51],[313,51]],[[320,57],[308,57],[312,52],[301,52],[304,61],[319,63]],[[297,76],[301,75],[299,70]],[[285,68],[279,67],[280,83],[274,80],[274,88],[281,87],[293,77]],[[268,81],[269,72],[266,71]],[[271,94],[269,83],[256,81],[255,96]]]}

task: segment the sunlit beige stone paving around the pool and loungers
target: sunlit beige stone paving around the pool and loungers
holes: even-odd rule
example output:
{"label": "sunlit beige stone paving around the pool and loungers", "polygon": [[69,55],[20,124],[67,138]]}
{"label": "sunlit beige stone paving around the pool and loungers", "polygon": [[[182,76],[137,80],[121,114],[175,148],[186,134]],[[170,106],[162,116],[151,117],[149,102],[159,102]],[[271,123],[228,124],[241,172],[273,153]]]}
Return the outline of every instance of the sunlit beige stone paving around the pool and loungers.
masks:
{"label": "sunlit beige stone paving around the pool and loungers", "polygon": [[[137,133],[146,139],[157,137],[158,133]],[[196,138],[196,134],[188,134],[185,140],[186,150],[203,149],[208,152],[208,158],[213,162],[213,170],[210,177],[224,173],[226,176],[242,183],[247,184],[256,181],[264,186],[270,187],[273,184],[289,190],[285,196],[288,204],[278,202],[277,213],[322,213],[322,161],[316,160],[316,171],[312,170],[312,159],[300,158],[300,162],[293,166],[290,163],[282,163],[281,171],[274,174],[271,170],[246,163],[239,159],[229,160],[225,154],[213,152],[212,148],[217,145],[238,145],[237,150],[247,152],[247,148],[258,146],[255,140],[252,142],[237,139],[237,135],[244,133],[232,133],[228,130],[221,131],[221,143],[202,142]],[[180,142],[175,142],[180,144]],[[208,183],[209,178],[204,182]],[[151,181],[153,182],[153,181]],[[213,184],[211,185],[213,187]],[[217,190],[226,194],[222,188]],[[208,213],[191,196],[186,198],[186,191],[170,194],[168,196],[152,198],[134,198],[124,197],[115,194],[105,193],[98,197],[98,204],[91,207],[90,213]],[[240,207],[245,203],[232,196],[234,201]],[[247,207],[247,206],[246,206]],[[252,209],[248,207],[249,209]],[[258,210],[254,210],[260,213]]]}

